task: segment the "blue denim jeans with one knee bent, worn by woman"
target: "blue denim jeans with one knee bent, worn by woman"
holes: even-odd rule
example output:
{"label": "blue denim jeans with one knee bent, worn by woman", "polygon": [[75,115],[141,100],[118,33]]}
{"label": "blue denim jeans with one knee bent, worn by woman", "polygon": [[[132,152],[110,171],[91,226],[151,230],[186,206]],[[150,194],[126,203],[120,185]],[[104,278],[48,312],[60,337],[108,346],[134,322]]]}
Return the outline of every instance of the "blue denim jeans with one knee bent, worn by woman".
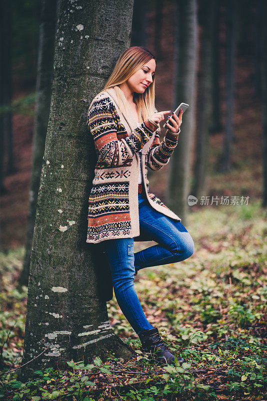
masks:
{"label": "blue denim jeans with one knee bent, worn by woman", "polygon": [[[109,263],[117,303],[136,333],[153,326],[147,321],[135,292],[135,268],[140,270],[180,262],[194,252],[193,240],[183,225],[154,210],[142,193],[138,193],[138,210],[138,237],[101,243]],[[134,241],[155,241],[157,245],[134,253]]]}

